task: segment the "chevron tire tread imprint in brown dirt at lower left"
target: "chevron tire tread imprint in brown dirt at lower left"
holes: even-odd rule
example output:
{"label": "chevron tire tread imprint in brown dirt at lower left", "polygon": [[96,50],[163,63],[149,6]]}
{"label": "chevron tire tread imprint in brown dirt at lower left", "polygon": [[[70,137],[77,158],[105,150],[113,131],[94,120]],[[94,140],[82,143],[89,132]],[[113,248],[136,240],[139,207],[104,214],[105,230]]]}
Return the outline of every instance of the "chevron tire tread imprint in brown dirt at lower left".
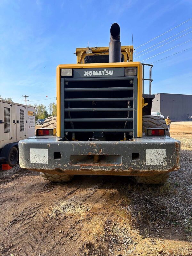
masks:
{"label": "chevron tire tread imprint in brown dirt at lower left", "polygon": [[[24,210],[10,222],[7,230],[10,233],[10,243],[14,251],[22,250],[24,255],[33,255],[34,249],[39,245],[39,241],[45,239],[48,234],[44,232],[45,225],[49,220],[50,214],[56,202],[54,200],[44,201],[28,205]],[[12,235],[12,226],[14,225],[14,233]],[[28,252],[29,251],[29,252]],[[19,253],[18,255],[23,255]],[[14,254],[17,255],[17,254]]]}

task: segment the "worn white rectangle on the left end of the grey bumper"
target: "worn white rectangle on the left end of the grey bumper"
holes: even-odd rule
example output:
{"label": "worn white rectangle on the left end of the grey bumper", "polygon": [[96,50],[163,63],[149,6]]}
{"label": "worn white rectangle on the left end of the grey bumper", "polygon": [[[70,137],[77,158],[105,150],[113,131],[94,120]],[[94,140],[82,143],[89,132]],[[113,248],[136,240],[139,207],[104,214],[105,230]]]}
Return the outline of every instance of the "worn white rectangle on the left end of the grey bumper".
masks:
{"label": "worn white rectangle on the left end of the grey bumper", "polygon": [[34,164],[48,164],[48,149],[30,148],[30,162]]}

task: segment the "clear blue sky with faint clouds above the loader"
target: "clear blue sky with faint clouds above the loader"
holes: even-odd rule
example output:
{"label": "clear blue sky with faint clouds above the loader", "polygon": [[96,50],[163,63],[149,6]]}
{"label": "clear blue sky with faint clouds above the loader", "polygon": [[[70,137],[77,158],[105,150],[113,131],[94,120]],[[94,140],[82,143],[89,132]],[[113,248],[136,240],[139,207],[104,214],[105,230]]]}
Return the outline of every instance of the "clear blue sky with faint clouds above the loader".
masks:
{"label": "clear blue sky with faint clouds above the loader", "polygon": [[[90,47],[108,46],[112,23],[121,27],[121,45],[131,45],[133,34],[135,54],[173,36],[135,55],[135,61],[152,63],[192,47],[190,18],[191,0],[0,0],[0,95],[22,103],[26,94],[31,104],[48,106],[56,102],[56,66],[76,63],[76,47],[88,41]],[[152,76],[152,93],[192,94],[192,48],[154,63]]]}

